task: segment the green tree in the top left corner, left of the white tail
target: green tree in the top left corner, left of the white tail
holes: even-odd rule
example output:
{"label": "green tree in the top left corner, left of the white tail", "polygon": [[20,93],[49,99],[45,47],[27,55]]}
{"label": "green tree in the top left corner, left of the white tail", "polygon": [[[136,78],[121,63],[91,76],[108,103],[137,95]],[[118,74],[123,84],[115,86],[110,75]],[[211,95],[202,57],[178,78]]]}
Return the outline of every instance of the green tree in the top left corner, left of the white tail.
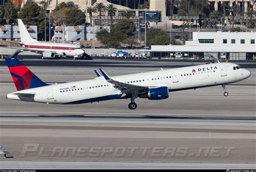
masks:
{"label": "green tree in the top left corner, left of the white tail", "polygon": [[16,23],[15,20],[17,19],[17,9],[14,4],[12,3],[5,3],[1,6],[1,18],[5,19],[3,24],[11,24]]}

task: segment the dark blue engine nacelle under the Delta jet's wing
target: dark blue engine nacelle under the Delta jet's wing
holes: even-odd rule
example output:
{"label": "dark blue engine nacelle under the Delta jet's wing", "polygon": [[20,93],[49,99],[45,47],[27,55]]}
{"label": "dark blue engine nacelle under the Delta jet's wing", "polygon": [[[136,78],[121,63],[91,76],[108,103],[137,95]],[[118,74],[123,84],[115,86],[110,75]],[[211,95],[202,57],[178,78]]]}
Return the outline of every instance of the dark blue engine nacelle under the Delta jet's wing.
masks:
{"label": "dark blue engine nacelle under the Delta jet's wing", "polygon": [[168,87],[152,88],[146,95],[140,96],[140,98],[149,98],[150,100],[160,100],[169,97]]}

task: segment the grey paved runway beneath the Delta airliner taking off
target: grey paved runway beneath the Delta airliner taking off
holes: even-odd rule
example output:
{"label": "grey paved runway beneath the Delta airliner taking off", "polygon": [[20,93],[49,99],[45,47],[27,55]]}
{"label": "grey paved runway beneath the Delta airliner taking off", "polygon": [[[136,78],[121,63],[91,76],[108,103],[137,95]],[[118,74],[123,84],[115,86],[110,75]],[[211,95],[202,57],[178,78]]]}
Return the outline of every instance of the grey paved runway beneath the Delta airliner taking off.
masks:
{"label": "grey paved runway beneath the Delta airliner taking off", "polygon": [[[102,66],[116,76],[159,70],[161,63],[144,68],[132,63]],[[93,66],[29,68],[52,84],[96,77]],[[9,70],[0,66],[0,146],[10,152],[9,158],[0,157],[0,161],[3,167],[21,167],[22,163],[33,167],[43,161],[56,168],[65,162],[70,168],[87,169],[100,168],[102,162],[113,168],[211,168],[218,164],[252,168],[256,161],[256,70],[249,70],[250,78],[227,85],[228,97],[220,86],[176,91],[162,101],[136,99],[138,109],[131,111],[128,99],[79,105],[5,99],[16,88]]]}

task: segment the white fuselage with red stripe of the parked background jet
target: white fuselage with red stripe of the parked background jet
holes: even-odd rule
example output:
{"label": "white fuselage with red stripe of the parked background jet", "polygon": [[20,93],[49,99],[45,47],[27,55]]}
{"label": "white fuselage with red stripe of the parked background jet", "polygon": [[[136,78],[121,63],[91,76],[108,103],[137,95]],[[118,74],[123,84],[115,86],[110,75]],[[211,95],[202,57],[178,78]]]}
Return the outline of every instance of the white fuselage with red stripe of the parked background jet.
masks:
{"label": "white fuselage with red stripe of the parked background jet", "polygon": [[58,56],[78,57],[84,54],[83,49],[77,45],[49,42],[24,42],[25,49],[33,52],[55,52]]}

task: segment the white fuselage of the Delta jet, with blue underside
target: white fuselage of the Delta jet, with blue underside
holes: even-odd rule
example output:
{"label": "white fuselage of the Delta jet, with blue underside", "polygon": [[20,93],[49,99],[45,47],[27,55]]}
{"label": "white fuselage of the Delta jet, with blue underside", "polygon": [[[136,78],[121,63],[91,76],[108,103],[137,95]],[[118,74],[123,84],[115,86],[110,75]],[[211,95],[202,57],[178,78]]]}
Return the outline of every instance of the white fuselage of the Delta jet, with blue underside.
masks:
{"label": "white fuselage of the Delta jet, with blue underside", "polygon": [[[115,81],[145,87],[168,87],[169,91],[211,87],[245,80],[250,77],[246,69],[234,70],[234,63],[212,63],[146,73],[111,77]],[[16,93],[35,94],[33,98],[19,98]],[[12,92],[6,98],[53,104],[78,104],[125,98],[103,76],[92,80],[48,85]],[[126,97],[127,98],[127,97]]]}

